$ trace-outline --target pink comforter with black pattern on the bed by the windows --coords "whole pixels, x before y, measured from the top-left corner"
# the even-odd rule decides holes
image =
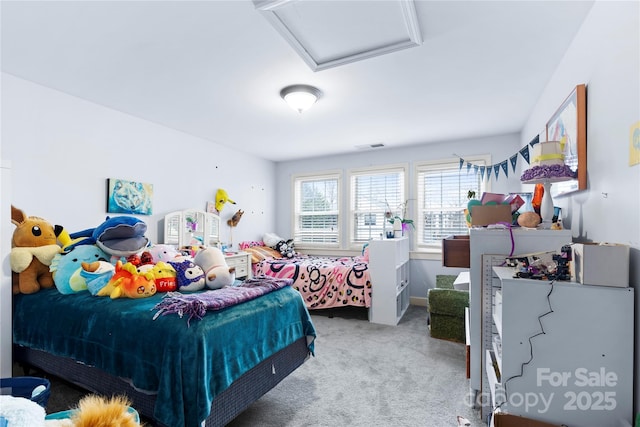
[[[288,259],[266,259],[253,264],[254,277],[293,279],[307,308],[346,305],[371,306],[369,264],[362,257],[327,258],[298,254]]]

